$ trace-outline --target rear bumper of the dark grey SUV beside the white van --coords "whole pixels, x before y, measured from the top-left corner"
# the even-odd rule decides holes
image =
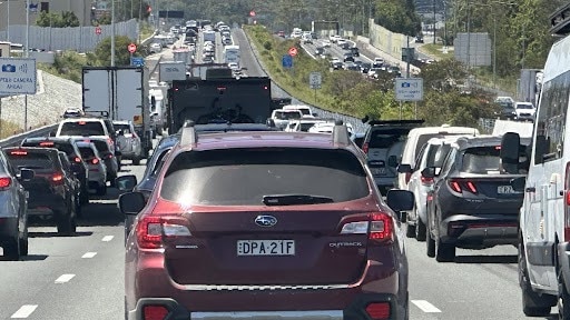
[[[518,216],[455,214],[440,223],[440,238],[465,249],[483,249],[499,244],[519,243]]]

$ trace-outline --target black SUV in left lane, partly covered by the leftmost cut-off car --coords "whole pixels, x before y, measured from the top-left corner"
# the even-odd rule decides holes
[[[61,164],[59,150],[53,148],[4,148],[14,169],[33,170],[33,178],[22,181],[29,192],[28,214],[55,219],[58,233],[76,232],[76,194],[73,178]]]

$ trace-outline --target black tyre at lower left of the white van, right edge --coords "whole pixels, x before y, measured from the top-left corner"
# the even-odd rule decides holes
[[[522,312],[528,317],[547,317],[550,314],[551,306],[556,304],[553,296],[539,296],[532,290],[529,272],[527,270],[527,260],[524,258],[524,244],[519,238],[519,284],[522,291]],[[552,298],[548,298],[552,297]]]

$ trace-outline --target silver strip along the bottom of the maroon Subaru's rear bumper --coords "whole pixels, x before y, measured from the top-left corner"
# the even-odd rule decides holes
[[[199,320],[228,320],[228,319],[258,319],[258,320],[343,320],[342,310],[317,311],[238,311],[238,312],[191,312],[190,319]]]

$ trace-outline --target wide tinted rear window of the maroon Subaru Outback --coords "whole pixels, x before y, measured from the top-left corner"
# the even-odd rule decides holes
[[[180,153],[160,190],[164,199],[204,206],[263,206],[264,196],[275,194],[343,202],[366,197],[370,188],[350,151],[263,148]]]

